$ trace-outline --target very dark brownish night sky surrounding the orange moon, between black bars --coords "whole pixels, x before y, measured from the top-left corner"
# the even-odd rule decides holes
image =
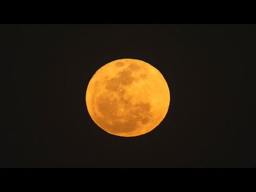
[[[0,25],[0,167],[256,167],[256,25]],[[163,74],[168,114],[124,138],[90,118],[104,64],[134,58]]]

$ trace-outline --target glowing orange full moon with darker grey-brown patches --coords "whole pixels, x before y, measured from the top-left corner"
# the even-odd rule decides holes
[[[102,66],[86,90],[92,120],[110,134],[146,134],[162,122],[170,91],[162,74],[136,59],[119,59]]]

